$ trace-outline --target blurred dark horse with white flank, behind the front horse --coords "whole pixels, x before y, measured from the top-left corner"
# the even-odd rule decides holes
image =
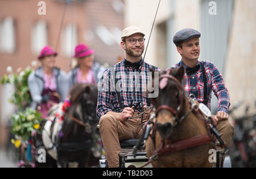
[[[97,86],[76,84],[69,94],[69,101],[49,111],[42,132],[44,147],[61,167],[74,162],[78,167],[97,165],[96,158],[101,155],[96,146],[100,136],[96,127]]]

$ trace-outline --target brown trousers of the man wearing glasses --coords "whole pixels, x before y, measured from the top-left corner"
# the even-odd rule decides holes
[[[134,113],[134,116],[137,115]],[[144,116],[143,123],[146,122]],[[141,116],[121,122],[111,114],[100,118],[100,135],[106,152],[109,167],[119,167],[118,153],[121,152],[119,140],[138,139],[142,135]]]

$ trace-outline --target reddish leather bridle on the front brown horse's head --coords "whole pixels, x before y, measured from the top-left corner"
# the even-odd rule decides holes
[[[174,115],[174,121],[175,121],[175,125],[179,122],[181,122],[181,119],[184,119],[183,116],[181,118],[179,118],[179,113],[180,110],[182,109],[183,103],[185,101],[185,97],[184,97],[184,93],[183,90],[181,89],[181,82],[179,80],[177,80],[176,77],[172,76],[170,74],[171,70],[168,69],[166,74],[162,74],[159,77],[159,88],[160,89],[164,89],[166,88],[167,84],[168,84],[168,79],[171,79],[172,81],[175,81],[175,87],[176,89],[179,91],[179,106],[177,107],[177,109],[174,109],[171,106],[168,105],[160,105],[156,111],[155,111],[155,116],[158,116],[159,112],[162,110],[167,110],[170,111],[172,115]]]

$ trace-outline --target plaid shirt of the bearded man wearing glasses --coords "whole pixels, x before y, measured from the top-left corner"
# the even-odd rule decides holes
[[[114,86],[115,78],[117,78],[116,87],[117,90],[120,91],[123,108],[130,106],[131,101],[133,100],[133,95],[133,103],[141,102],[138,109],[141,109],[144,105],[151,105],[146,94],[146,88],[147,82],[151,80],[150,69],[152,69],[153,66],[145,62],[142,64],[141,59],[139,63],[142,65],[142,68],[141,73],[139,73],[139,69],[137,68],[126,67],[125,60],[126,59],[106,69],[101,77],[101,81],[98,84],[98,103],[96,108],[98,119],[109,111],[121,113]],[[159,70],[156,67],[155,69]],[[138,76],[139,82],[137,84]]]

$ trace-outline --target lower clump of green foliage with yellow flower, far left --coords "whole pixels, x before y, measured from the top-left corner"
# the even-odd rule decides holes
[[[19,136],[22,141],[28,140],[31,136],[31,132],[36,130],[38,124],[43,120],[41,115],[41,113],[31,108],[14,114],[11,117],[13,126],[12,132]]]

